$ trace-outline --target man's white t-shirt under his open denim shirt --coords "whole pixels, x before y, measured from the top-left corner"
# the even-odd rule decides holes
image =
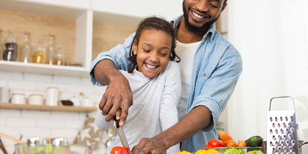
[[[185,44],[176,40],[175,53],[181,59],[181,62],[179,62],[179,64],[180,64],[181,79],[182,79],[182,92],[181,92],[179,106],[177,109],[179,120],[182,119],[186,114],[187,99],[191,85],[191,76],[194,67],[194,57],[200,43],[201,41]]]

